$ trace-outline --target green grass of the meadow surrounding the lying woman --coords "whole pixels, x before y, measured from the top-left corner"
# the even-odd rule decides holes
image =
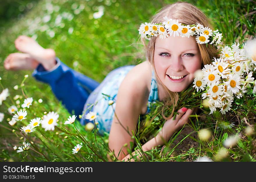
[[[122,65],[137,64],[145,60],[143,48],[138,43],[138,28],[141,23],[148,21],[159,8],[175,1],[136,1],[136,0],[98,0],[98,1],[75,1],[75,0],[52,0],[35,1],[33,7],[27,6],[27,1],[22,1],[21,5],[25,8],[22,12],[17,12],[6,19],[1,19],[0,28],[0,77],[4,88],[9,88],[10,97],[2,105],[0,112],[5,113],[5,118],[1,123],[0,147],[1,161],[106,161],[107,138],[95,135],[94,131],[87,132],[84,126],[78,122],[75,124],[81,134],[76,132],[74,126],[65,126],[63,123],[67,120],[69,113],[58,102],[51,92],[49,85],[35,81],[31,76],[24,82],[24,87],[14,90],[15,85],[20,85],[25,74],[31,75],[31,71],[6,71],[3,68],[3,61],[8,54],[17,52],[14,41],[21,35],[37,37],[38,43],[44,48],[52,48],[57,56],[66,65],[87,76],[102,81],[109,71]],[[46,10],[46,3],[51,2],[55,10],[51,13],[51,19],[47,23],[42,22],[42,18],[49,12]],[[256,6],[250,1],[205,1],[191,0],[186,1],[195,4],[209,17],[215,29],[223,32],[223,44],[232,44],[234,41],[243,43],[247,39],[255,37],[256,32]],[[84,5],[80,13],[75,14],[76,5]],[[10,5],[11,6],[11,5]],[[8,12],[13,12],[15,6],[8,7]],[[49,6],[49,5],[48,5]],[[57,11],[57,6],[59,10]],[[97,12],[98,6],[104,6],[104,15],[99,19],[93,18],[93,13]],[[6,5],[7,7],[7,5]],[[20,8],[23,10],[24,7]],[[49,10],[49,7],[48,7]],[[62,25],[56,26],[55,19],[59,14],[69,12],[73,19],[62,19]],[[21,13],[21,14],[20,14]],[[16,16],[16,17],[14,17]],[[19,17],[19,18],[18,18]],[[3,26],[2,26],[3,25]],[[48,25],[46,31],[42,31],[42,26]],[[64,25],[64,26],[63,26]],[[73,28],[70,34],[68,30]],[[55,32],[54,37],[49,36],[49,30]],[[78,65],[73,63],[77,61]],[[2,89],[1,89],[2,90]],[[27,118],[42,117],[44,112],[55,111],[60,115],[58,128],[54,132],[44,132],[39,129],[35,134],[23,135],[19,128],[26,125],[17,123],[15,127],[8,125],[8,119],[12,115],[8,114],[6,108],[15,101],[12,99],[16,94],[22,95],[22,90],[27,97],[33,97],[35,101],[42,98],[43,103],[35,103],[36,107],[28,110]],[[20,99],[23,102],[24,96]],[[13,103],[12,103],[13,102]],[[248,101],[249,102],[249,101]],[[251,105],[256,105],[252,100]],[[247,103],[241,101],[241,103]],[[255,117],[251,112],[252,117]],[[241,121],[234,128],[217,128],[218,115],[212,118],[204,114],[191,120],[191,124],[177,132],[172,139],[166,143],[164,148],[154,149],[146,152],[148,158],[143,161],[193,161],[198,156],[207,155],[211,159],[216,159],[218,150],[222,147],[222,142],[231,133],[242,132],[246,125]],[[205,123],[203,123],[205,122]],[[232,122],[232,120],[230,121]],[[202,124],[203,123],[203,124]],[[213,133],[213,138],[209,142],[202,142],[197,137],[197,132],[201,128],[209,128]],[[189,132],[187,129],[190,128]],[[186,130],[184,130],[186,129]],[[13,131],[15,130],[15,131]],[[42,130],[42,131],[39,131]],[[42,133],[41,133],[42,132]],[[56,134],[58,132],[58,134]],[[41,136],[42,135],[42,136]],[[65,137],[67,136],[67,137]],[[20,139],[23,137],[23,139]],[[135,144],[131,147],[140,148],[141,141],[137,136]],[[34,147],[24,153],[17,153],[13,146],[21,146],[24,138],[33,141]],[[86,141],[88,143],[86,144]],[[184,151],[181,147],[182,142],[195,142],[190,148]],[[73,155],[72,148],[77,143],[82,142],[84,147]],[[224,161],[255,161],[255,135],[243,138],[236,147],[227,149],[229,156]],[[44,156],[44,155],[45,156]],[[216,159],[217,160],[217,159]]]

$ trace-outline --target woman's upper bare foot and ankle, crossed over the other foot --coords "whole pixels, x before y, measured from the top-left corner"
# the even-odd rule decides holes
[[[15,47],[20,52],[29,54],[33,59],[41,63],[46,70],[50,70],[56,65],[55,51],[43,48],[30,37],[25,35],[19,36],[15,40]]]

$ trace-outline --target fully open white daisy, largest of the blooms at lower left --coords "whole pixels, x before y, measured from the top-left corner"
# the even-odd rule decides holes
[[[47,115],[44,115],[43,120],[41,121],[42,128],[47,130],[54,130],[54,126],[57,125],[57,119],[59,115],[55,112],[49,112]]]

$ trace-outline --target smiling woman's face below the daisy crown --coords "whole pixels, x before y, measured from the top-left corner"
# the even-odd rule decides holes
[[[161,82],[172,92],[185,90],[201,69],[201,56],[193,37],[157,38],[154,65]]]

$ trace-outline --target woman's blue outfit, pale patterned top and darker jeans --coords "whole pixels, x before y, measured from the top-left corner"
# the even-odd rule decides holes
[[[67,108],[71,114],[82,114],[81,124],[89,121],[86,114],[90,111],[97,113],[95,122],[99,124],[99,133],[109,133],[114,117],[115,101],[118,88],[125,78],[126,74],[134,68],[134,65],[123,66],[111,71],[102,83],[98,83],[85,75],[78,73],[58,58],[57,64],[51,70],[45,70],[42,65],[34,70],[32,75],[39,81],[48,83],[58,100]],[[109,105],[109,101],[113,105]],[[151,88],[148,98],[147,113],[150,111],[150,103],[158,98],[157,81],[152,72]]]

